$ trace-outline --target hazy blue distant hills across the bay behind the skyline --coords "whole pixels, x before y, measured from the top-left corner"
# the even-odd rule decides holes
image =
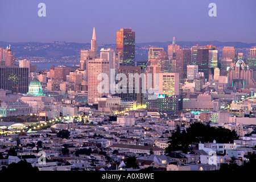
[[[18,42],[9,43],[1,42],[0,47],[6,48],[11,45],[14,55],[18,59],[35,59],[38,57],[46,60],[74,60],[79,61],[81,49],[90,49],[90,43],[75,43],[75,42],[52,42],[52,43],[41,43],[41,42]],[[147,60],[147,52],[150,47],[163,47],[167,51],[168,45],[172,42],[150,42],[150,43],[136,43],[135,44],[135,61]],[[207,46],[213,45],[217,47],[234,46],[234,48],[251,48],[256,46],[256,43],[243,43],[243,42],[219,42],[213,41],[178,41],[176,42],[181,48],[189,48],[192,46]],[[115,44],[98,44],[98,51],[101,48],[112,48],[115,49]],[[243,51],[243,50],[242,50]],[[247,52],[245,52],[246,55]],[[221,51],[220,51],[221,54]]]

